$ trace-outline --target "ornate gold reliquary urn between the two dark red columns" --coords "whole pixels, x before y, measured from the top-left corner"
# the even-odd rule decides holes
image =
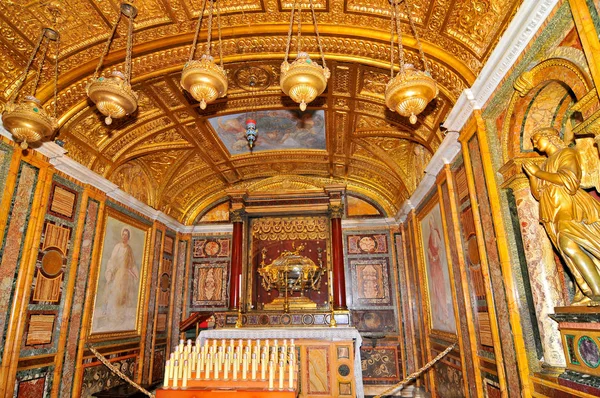
[[[262,262],[258,273],[265,290],[276,289],[279,292],[272,302],[265,304],[266,310],[311,309],[317,308],[317,303],[304,296],[307,290],[318,291],[321,286],[321,277],[325,273],[319,249],[318,262],[315,264],[310,258],[301,255],[304,245],[301,244],[294,250],[285,250],[271,264],[265,264],[266,249],[262,250]],[[299,292],[299,296],[294,296]]]

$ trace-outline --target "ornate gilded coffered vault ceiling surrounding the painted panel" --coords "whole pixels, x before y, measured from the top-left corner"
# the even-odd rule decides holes
[[[136,1],[133,82],[140,94],[139,110],[109,128],[86,99],[85,86],[116,20],[119,2],[62,1],[59,138],[69,156],[185,223],[222,199],[225,190],[251,189],[266,178],[301,181],[299,187],[342,182],[394,214],[416,188],[443,139],[439,123],[474,81],[520,1],[411,2],[433,77],[440,85],[440,95],[416,125],[387,110],[383,100],[390,59],[388,1],[315,1],[332,76],[325,93],[309,109],[324,111],[326,149],[238,155],[228,152],[209,118],[248,108],[297,109],[279,89],[291,0],[222,0],[223,55],[230,86],[227,97],[205,111],[179,86],[201,1]],[[39,1],[0,2],[0,104],[14,90],[35,37],[50,19]],[[406,18],[403,21],[407,32]],[[306,48],[314,53],[316,40],[306,25],[310,28],[304,33]],[[122,69],[124,26],[117,33],[105,72]],[[203,28],[201,40],[205,36]],[[406,58],[419,65],[412,35],[404,37],[404,45]],[[47,69],[38,97],[51,106]],[[268,87],[249,90],[250,75],[268,81],[261,83]],[[260,120],[258,129],[260,134]]]

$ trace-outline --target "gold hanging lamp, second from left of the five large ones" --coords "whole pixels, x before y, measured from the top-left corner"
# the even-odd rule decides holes
[[[98,72],[104,62],[104,57],[108,54],[110,45],[117,31],[117,26],[121,16],[125,15],[129,19],[127,29],[127,48],[125,55],[125,73],[114,71],[110,77],[98,77]],[[108,125],[112,123],[113,118],[118,119],[130,115],[137,109],[137,94],[131,89],[131,52],[133,47],[133,19],[137,15],[137,9],[129,2],[121,4],[121,11],[117,22],[106,42],[106,49],[100,57],[100,62],[96,67],[92,81],[87,86],[88,97],[96,104],[96,107],[106,118],[104,122]]]

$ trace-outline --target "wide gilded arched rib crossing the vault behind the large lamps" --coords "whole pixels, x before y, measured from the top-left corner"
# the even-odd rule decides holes
[[[263,60],[283,58],[287,29],[287,24],[243,26],[227,29],[226,32],[228,34],[223,37],[224,62],[231,63],[261,58]],[[355,25],[322,26],[319,24],[319,31],[324,35],[323,46],[328,59],[347,60],[389,68],[389,29],[381,31],[357,27]],[[279,33],[280,35],[258,35],[262,32],[269,32],[271,35]],[[252,35],[258,36],[248,37]],[[308,40],[307,46],[309,48],[316,48],[315,38],[309,36],[306,40]],[[180,70],[189,55],[191,41],[192,33],[189,33],[157,38],[152,42],[134,46],[132,83]],[[314,43],[312,43],[313,41]],[[404,37],[403,45],[408,57],[407,61],[417,62],[419,55],[416,50],[415,40],[412,37]],[[440,83],[456,83],[460,81],[462,84],[470,84],[475,80],[474,72],[450,53],[427,42],[424,42],[423,46],[427,59],[432,66],[432,74],[434,78],[439,78]],[[349,50],[350,53],[348,53]],[[87,61],[83,61],[82,59],[66,59],[65,61],[61,61],[61,69],[67,70],[67,72],[61,73],[58,82],[59,87],[78,85],[81,89],[84,89],[97,65],[101,52],[94,55],[94,57],[89,57]],[[106,65],[105,70],[110,71],[117,68],[123,62],[124,57],[124,50],[109,53],[104,61],[104,65]],[[157,65],[160,65],[160,68],[157,68]],[[452,75],[456,75],[456,77],[451,77]],[[449,78],[454,80],[454,82],[448,81]],[[85,81],[82,82],[81,80]],[[442,84],[442,87],[444,86]],[[60,90],[60,92],[62,93],[63,90]],[[85,90],[82,92],[85,95]],[[51,84],[45,84],[40,87],[38,96],[43,103],[46,102],[52,96]],[[452,95],[450,94],[449,97],[452,97]],[[58,102],[60,104],[65,100],[65,98],[59,97]],[[71,103],[69,108],[74,105]],[[63,112],[62,109],[61,112]]]

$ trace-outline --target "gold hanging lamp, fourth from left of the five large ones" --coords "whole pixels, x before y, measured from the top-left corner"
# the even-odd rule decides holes
[[[317,17],[315,15],[315,6],[313,0],[309,0],[310,11],[312,13],[313,24],[315,27],[315,35],[317,36],[317,44],[321,54],[323,66],[313,62],[307,52],[302,51],[302,5],[299,0],[294,0],[294,6],[290,15],[290,28],[288,30],[288,40],[285,49],[285,59],[281,64],[280,85],[284,94],[300,104],[300,110],[306,110],[306,104],[312,102],[317,96],[321,95],[327,87],[327,80],[331,73],[325,64],[325,55],[323,53],[323,45],[319,36],[319,27],[317,25]],[[291,64],[288,62],[290,46],[292,42],[292,30],[294,27],[294,13],[298,5],[298,55]]]

